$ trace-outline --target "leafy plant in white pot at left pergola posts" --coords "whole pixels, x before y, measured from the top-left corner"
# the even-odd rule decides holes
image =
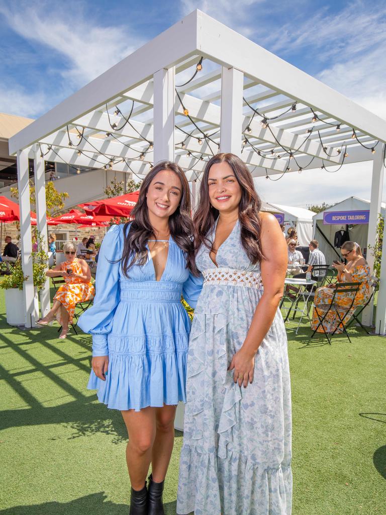
[[[43,289],[48,268],[48,256],[43,249],[42,238],[36,231],[38,242],[38,251],[32,253],[32,269],[33,269],[33,286],[34,286],[34,308],[32,317],[37,320],[39,318],[39,301],[38,292]],[[23,301],[23,283],[28,276],[23,275],[22,262],[18,259],[9,276],[5,276],[0,282],[0,288],[5,290],[5,305],[7,313],[7,323],[10,325],[24,325],[24,301]]]

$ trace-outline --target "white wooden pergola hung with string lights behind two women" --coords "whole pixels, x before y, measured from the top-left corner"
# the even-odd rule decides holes
[[[9,140],[10,154],[17,155],[26,327],[33,325],[34,293],[28,159],[34,160],[44,237],[44,161],[143,177],[153,163],[168,159],[185,170],[195,196],[196,180],[219,150],[241,156],[253,177],[372,160],[374,245],[385,142],[384,119],[203,12],[192,12]],[[386,256],[386,238],[384,247]],[[367,261],[373,265],[370,253]],[[386,258],[379,334],[386,333],[383,284]],[[44,314],[48,282],[41,306]],[[366,316],[370,322],[370,310]]]

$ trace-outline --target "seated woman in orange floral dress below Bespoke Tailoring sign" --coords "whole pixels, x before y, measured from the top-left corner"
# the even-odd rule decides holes
[[[356,242],[345,242],[341,247],[341,254],[343,258],[347,259],[347,264],[334,266],[338,270],[338,282],[339,283],[360,283],[358,293],[339,293],[335,296],[334,304],[342,306],[340,310],[337,307],[335,310],[331,310],[326,318],[323,320],[323,325],[326,333],[341,333],[343,331],[342,324],[340,323],[339,316],[343,319],[344,324],[352,317],[357,306],[363,306],[370,297],[370,282],[371,272],[370,267],[367,265],[366,260],[363,258],[360,246]],[[328,310],[329,304],[331,304],[332,297],[334,297],[335,284],[329,286],[323,286],[315,291],[315,299],[312,313],[311,329],[314,331],[317,329],[320,320],[323,319],[326,311]],[[355,295],[354,303],[350,308],[348,314],[345,316],[347,308],[353,301],[353,295]],[[319,317],[318,317],[319,314]],[[317,329],[318,333],[323,333],[322,325]]]

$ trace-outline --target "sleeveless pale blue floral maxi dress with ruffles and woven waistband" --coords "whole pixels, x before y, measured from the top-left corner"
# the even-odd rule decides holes
[[[277,310],[256,354],[253,383],[240,388],[227,367],[247,335],[262,286],[260,265],[252,265],[241,247],[239,222],[218,249],[217,264],[202,247],[197,266],[204,287],[189,342],[177,512],[290,515],[291,392],[283,318]]]

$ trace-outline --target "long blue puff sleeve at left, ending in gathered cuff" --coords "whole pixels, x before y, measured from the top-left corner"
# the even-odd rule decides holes
[[[93,305],[79,318],[78,325],[93,335],[93,356],[107,356],[107,335],[120,298],[119,268],[122,255],[122,227],[112,226],[99,250]]]

